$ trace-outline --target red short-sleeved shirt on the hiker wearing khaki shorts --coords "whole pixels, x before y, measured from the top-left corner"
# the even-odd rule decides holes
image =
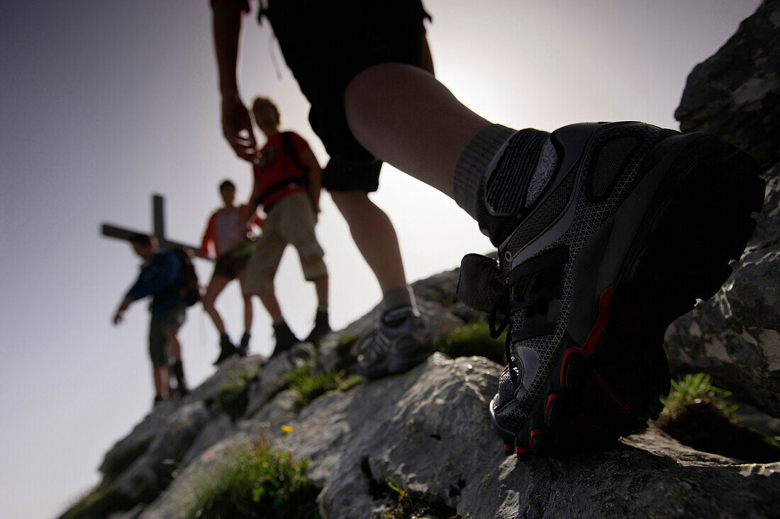
[[[295,132],[289,132],[289,136],[300,161],[300,156],[309,149],[309,144]],[[253,170],[255,182],[253,196],[264,196],[268,192],[268,196],[259,200],[265,207],[278,202],[290,193],[306,192],[306,187],[301,183],[306,172],[293,161],[293,157],[285,154],[282,133],[277,133],[268,139],[260,154],[257,155]]]

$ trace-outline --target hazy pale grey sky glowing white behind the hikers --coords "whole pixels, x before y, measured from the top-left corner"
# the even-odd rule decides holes
[[[151,407],[148,314],[109,323],[137,274],[129,246],[101,238],[108,221],[151,230],[151,193],[167,199],[172,238],[198,242],[229,177],[248,196],[250,170],[218,126],[207,0],[72,0],[3,5],[0,18],[0,517],[51,517],[98,480],[115,440]],[[491,121],[552,130],[636,119],[676,127],[687,74],[759,0],[427,0],[438,77]],[[275,72],[278,63],[281,79]],[[240,85],[275,99],[283,124],[321,143],[268,23],[246,19]],[[490,244],[449,199],[385,166],[374,201],[398,231],[410,281],[456,267]],[[380,298],[325,197],[317,228],[331,273],[335,328]],[[197,265],[204,280],[211,265]],[[276,278],[282,310],[305,336],[314,288],[288,249]],[[241,332],[236,287],[218,302]],[[270,321],[256,303],[254,351]],[[195,385],[213,372],[218,335],[200,307],[181,332]]]

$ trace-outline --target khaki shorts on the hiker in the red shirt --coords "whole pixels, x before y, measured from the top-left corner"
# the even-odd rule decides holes
[[[287,245],[293,245],[298,251],[307,281],[328,275],[322,260],[324,252],[314,234],[314,210],[306,193],[294,192],[274,204],[263,224],[263,235],[246,263],[244,295],[274,290],[274,276]]]

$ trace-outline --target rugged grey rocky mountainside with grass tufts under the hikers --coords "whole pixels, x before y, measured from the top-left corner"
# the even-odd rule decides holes
[[[732,277],[665,337],[675,375],[710,373],[714,386],[732,391],[743,408],[775,427],[778,55],[780,1],[767,1],[688,79],[675,112],[682,129],[714,132],[754,154],[767,168],[767,193],[757,230]],[[229,360],[119,440],[101,464],[100,485],[62,517],[780,515],[776,450],[752,462],[742,454],[704,452],[665,433],[663,419],[597,450],[528,461],[505,457],[488,416],[502,345],[486,337],[483,315],[458,302],[457,280],[452,270],[413,284],[444,353],[402,375],[356,378],[356,343],[375,322],[374,309],[317,348],[298,344],[288,357],[269,362],[257,356]],[[695,380],[701,385],[701,378]],[[704,436],[717,433],[711,427]],[[248,485],[246,500],[270,503],[268,510],[293,500],[297,515],[250,514],[239,485]],[[239,502],[226,512],[215,499]]]

